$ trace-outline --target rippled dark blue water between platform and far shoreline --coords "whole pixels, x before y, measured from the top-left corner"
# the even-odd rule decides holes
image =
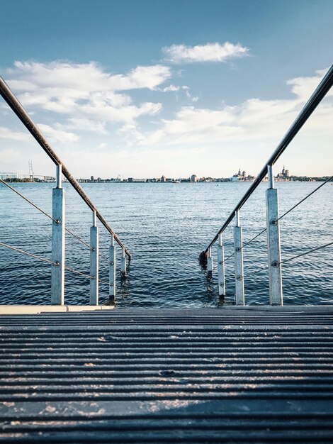
[[[287,211],[318,183],[276,184],[280,212]],[[51,213],[54,184],[14,184]],[[84,184],[84,189],[132,252],[128,278],[120,285],[118,306],[218,306],[217,270],[212,279],[198,264],[208,245],[249,184]],[[89,243],[91,211],[74,190],[66,189],[67,228]],[[266,184],[242,209],[243,241],[266,226]],[[281,220],[282,258],[332,242],[333,186],[319,192]],[[0,185],[0,241],[51,259],[48,218]],[[100,250],[108,253],[109,236],[100,228]],[[67,266],[89,274],[89,250],[66,236]],[[216,251],[214,252],[215,265]],[[118,253],[120,249],[118,248]],[[232,254],[232,226],[225,232],[225,257]],[[120,258],[120,255],[118,255]],[[266,233],[244,248],[247,304],[267,304],[268,274],[253,274],[267,262]],[[108,279],[101,257],[100,278]],[[120,260],[118,260],[120,266]],[[50,304],[50,265],[0,248],[0,304]],[[226,304],[235,294],[233,258],[226,263]],[[89,279],[66,272],[66,304],[89,304]],[[285,304],[333,304],[333,248],[305,255],[283,267]],[[100,301],[108,301],[101,284]]]

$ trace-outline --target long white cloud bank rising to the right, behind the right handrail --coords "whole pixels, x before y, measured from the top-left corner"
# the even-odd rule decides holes
[[[309,98],[323,72],[314,77],[300,77],[287,82],[292,85],[294,97],[285,100],[249,99],[237,106],[224,105],[220,109],[203,109],[183,106],[174,118],[162,119],[159,128],[147,133],[132,131],[135,142],[143,146],[193,145],[208,146],[214,143],[278,142]],[[182,87],[188,93],[188,87]],[[191,95],[188,93],[189,97]],[[329,132],[332,119],[333,91],[306,123],[303,131]],[[193,98],[192,98],[193,99]]]

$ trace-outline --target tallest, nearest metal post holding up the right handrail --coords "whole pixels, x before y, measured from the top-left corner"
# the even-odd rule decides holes
[[[267,172],[269,176],[269,189],[266,189],[269,304],[283,305],[278,190],[274,188],[274,176],[271,165],[268,165]]]

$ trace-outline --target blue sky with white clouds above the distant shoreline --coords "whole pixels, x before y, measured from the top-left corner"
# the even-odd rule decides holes
[[[0,74],[77,177],[256,174],[333,60],[331,0],[0,4]],[[332,111],[278,169],[332,174]],[[0,170],[51,173],[0,118]]]

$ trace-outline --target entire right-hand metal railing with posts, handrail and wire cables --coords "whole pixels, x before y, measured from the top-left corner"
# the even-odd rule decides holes
[[[278,190],[274,188],[274,176],[273,176],[273,165],[276,163],[278,158],[283,154],[286,150],[290,142],[293,140],[295,135],[298,134],[300,128],[303,127],[307,119],[312,115],[313,111],[320,104],[324,96],[326,96],[329,89],[333,84],[333,65],[327,71],[324,78],[318,85],[317,89],[313,92],[310,99],[307,101],[302,111],[300,111],[298,117],[293,122],[292,126],[290,126],[286,135],[281,140],[281,143],[278,145],[276,150],[273,152],[269,160],[265,163],[262,170],[257,175],[256,179],[252,185],[247,189],[242,199],[235,206],[235,209],[230,213],[230,216],[227,218],[225,223],[223,223],[222,227],[215,235],[213,240],[209,243],[208,247],[201,252],[199,257],[199,261],[203,265],[208,266],[208,275],[211,276],[213,273],[213,257],[212,257],[212,247],[215,242],[218,240],[218,288],[219,295],[225,296],[225,262],[230,260],[232,257],[235,257],[235,302],[237,305],[244,305],[244,269],[243,269],[243,249],[247,247],[250,243],[252,243],[256,238],[265,232],[267,232],[267,249],[268,249],[268,265],[267,267],[262,267],[261,269],[255,272],[261,272],[263,270],[269,271],[269,301],[271,305],[283,305],[283,292],[282,292],[282,274],[281,274],[281,265],[284,262],[289,262],[290,260],[294,260],[297,257],[303,256],[305,254],[310,254],[311,252],[320,250],[322,248],[327,248],[332,243],[327,243],[325,245],[321,245],[320,247],[313,248],[307,252],[304,252],[300,255],[295,255],[285,260],[281,260],[281,248],[280,248],[280,227],[279,221],[286,216],[290,211],[293,211],[298,205],[302,204],[308,197],[317,192],[324,184],[333,179],[329,177],[326,181],[320,184],[315,190],[307,194],[303,199],[301,199],[297,204],[295,204],[292,208],[290,208],[286,213],[283,213],[282,216],[279,216],[278,213]],[[249,197],[253,194],[254,190],[259,187],[259,184],[268,176],[268,189],[266,190],[266,228],[260,231],[260,233],[256,234],[254,238],[249,240],[247,243],[243,243],[242,241],[242,227],[240,225],[240,209],[244,206],[245,202],[249,199]],[[225,229],[230,226],[230,223],[235,218],[235,228],[234,228],[234,252],[232,255],[228,256],[227,259],[224,258],[224,245],[222,241],[222,233]]]

